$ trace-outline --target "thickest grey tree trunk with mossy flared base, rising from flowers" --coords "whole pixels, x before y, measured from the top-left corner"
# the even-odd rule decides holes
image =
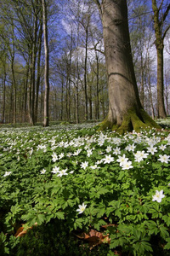
[[[99,3],[99,2],[98,2]],[[127,24],[127,1],[105,0],[100,5],[108,75],[109,113],[100,130],[139,131],[156,123],[144,112],[133,70]]]

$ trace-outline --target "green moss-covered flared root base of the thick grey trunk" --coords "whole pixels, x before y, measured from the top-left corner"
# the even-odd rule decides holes
[[[105,131],[111,129],[111,131],[117,131],[120,134],[124,134],[127,131],[139,132],[141,129],[156,128],[161,129],[160,125],[150,118],[150,115],[144,111],[143,108],[139,110],[139,114],[133,109],[127,111],[122,118],[122,124],[117,125],[111,122],[108,117],[101,122],[98,131]]]

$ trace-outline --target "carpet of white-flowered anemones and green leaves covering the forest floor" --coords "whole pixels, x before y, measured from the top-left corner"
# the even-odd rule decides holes
[[[170,255],[169,148],[165,130],[1,128],[0,255]]]

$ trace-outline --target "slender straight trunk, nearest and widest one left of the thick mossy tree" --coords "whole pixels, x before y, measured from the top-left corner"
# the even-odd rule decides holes
[[[44,94],[44,116],[43,126],[49,125],[49,54],[48,54],[48,22],[47,22],[47,3],[42,0],[42,14],[43,14],[43,37],[44,37],[44,51],[45,51],[45,94]]]

